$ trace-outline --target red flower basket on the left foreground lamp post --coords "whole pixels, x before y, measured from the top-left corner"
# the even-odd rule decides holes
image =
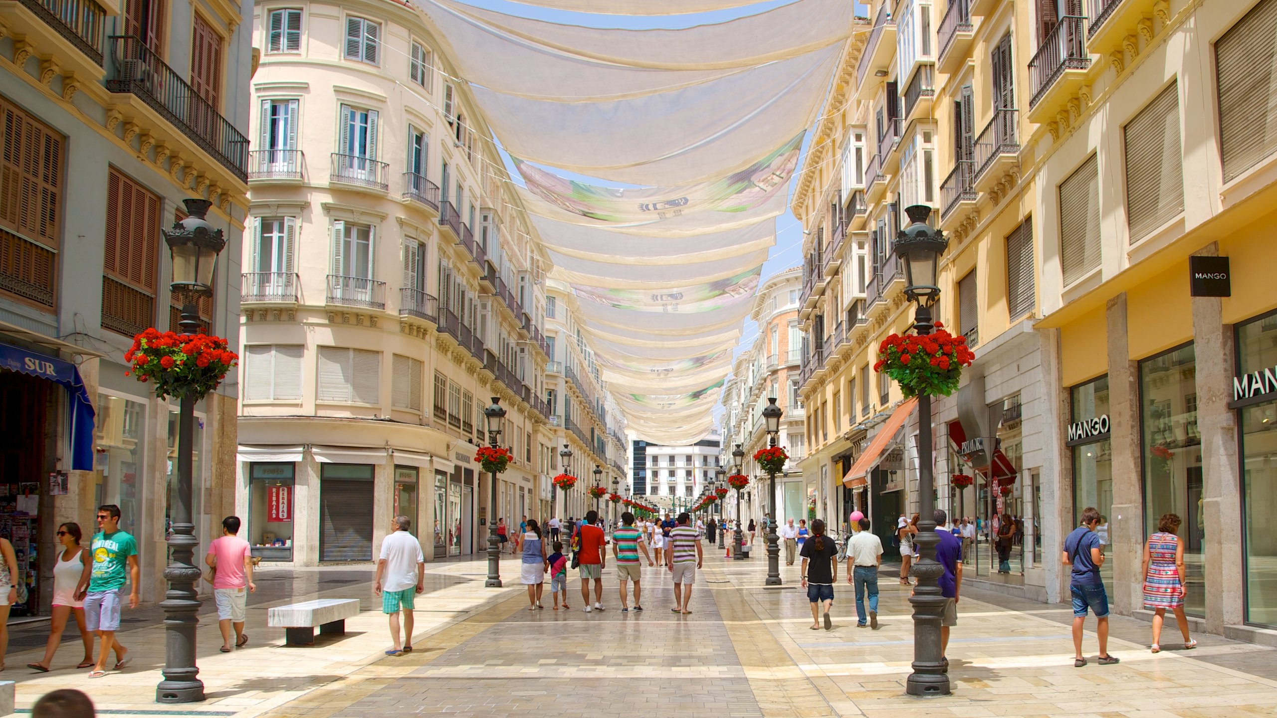
[[[125,376],[153,381],[156,396],[203,399],[217,388],[239,355],[226,349],[226,340],[199,333],[160,332],[148,328],[133,337],[124,360],[133,364]]]

